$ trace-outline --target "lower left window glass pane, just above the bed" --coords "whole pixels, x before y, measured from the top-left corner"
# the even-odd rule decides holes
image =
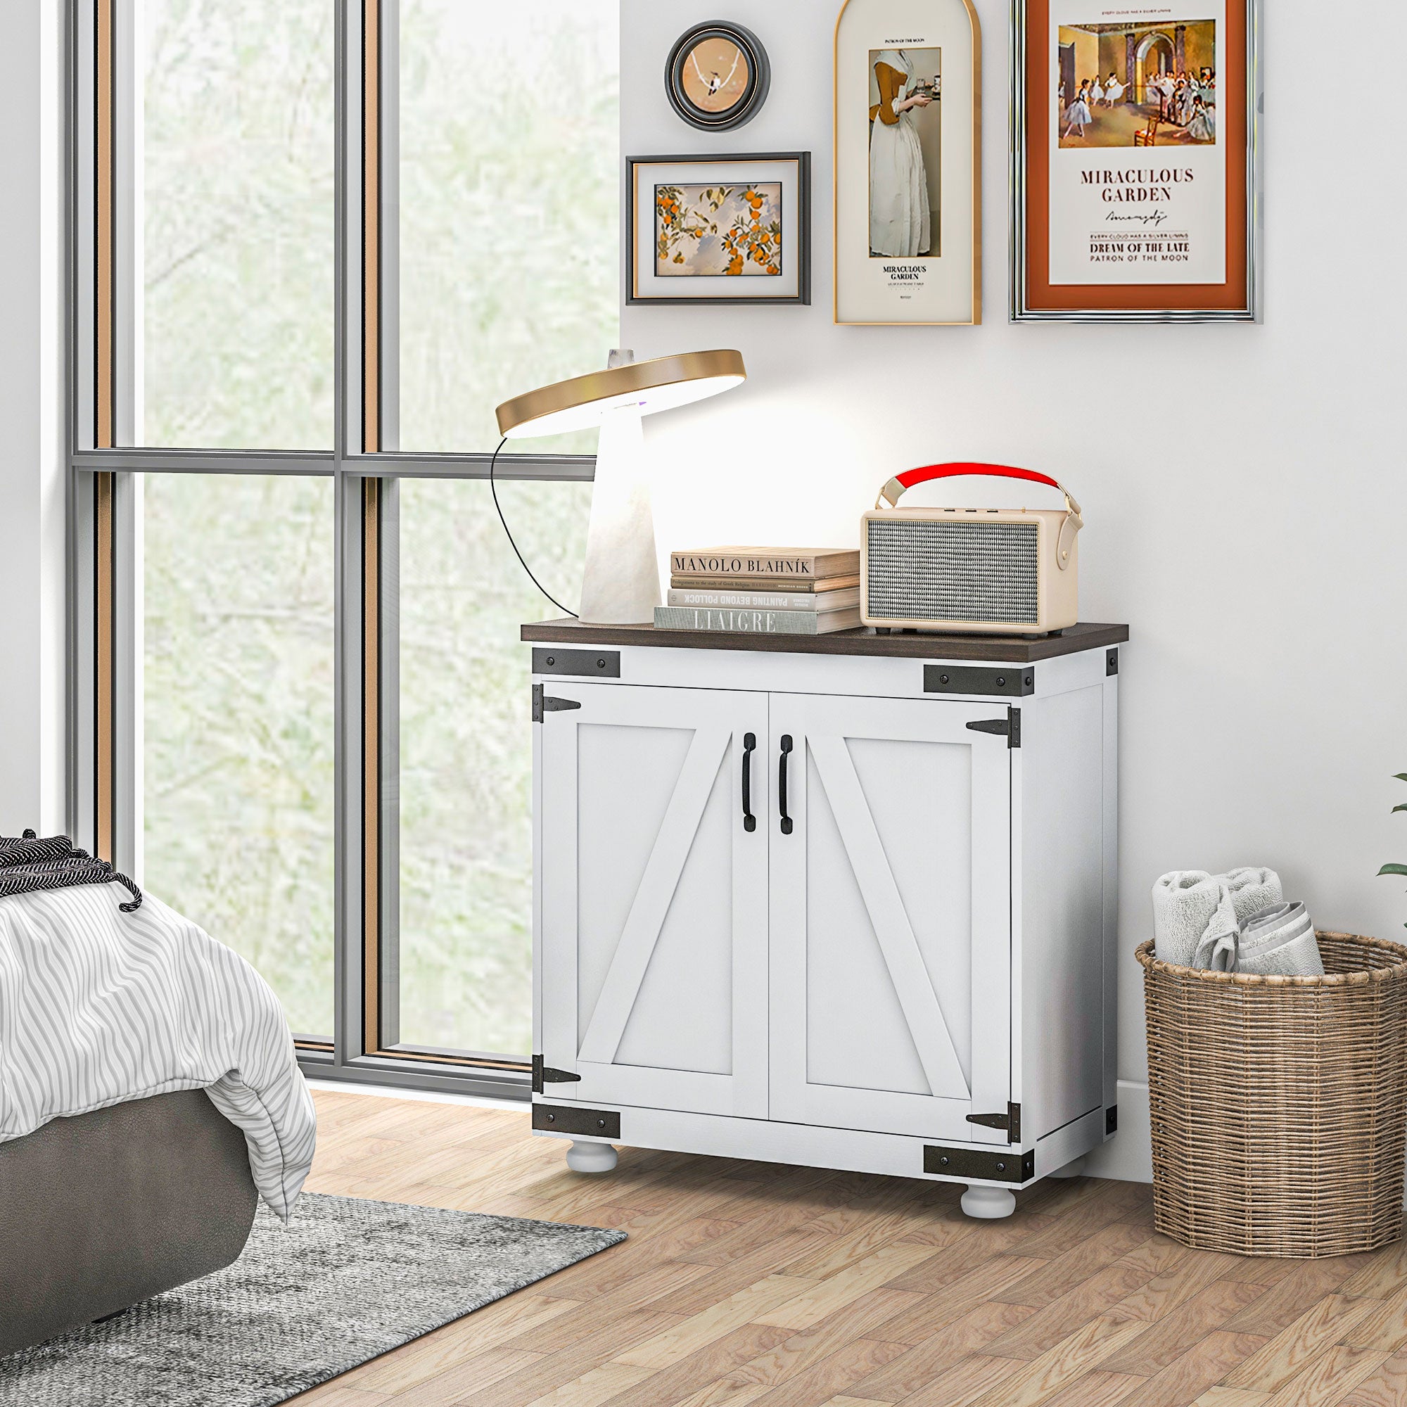
[[[142,884],[332,1033],[332,480],[135,476]]]

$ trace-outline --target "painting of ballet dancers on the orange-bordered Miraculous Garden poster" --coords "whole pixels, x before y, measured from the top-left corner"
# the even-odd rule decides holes
[[[1214,146],[1216,21],[1059,25],[1055,120],[1065,149]]]

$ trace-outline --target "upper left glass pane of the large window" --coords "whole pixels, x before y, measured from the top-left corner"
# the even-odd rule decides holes
[[[136,443],[332,446],[333,0],[141,0]]]

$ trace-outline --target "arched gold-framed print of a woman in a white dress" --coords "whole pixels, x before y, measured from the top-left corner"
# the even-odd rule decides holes
[[[836,21],[836,322],[982,321],[982,31],[971,0]]]

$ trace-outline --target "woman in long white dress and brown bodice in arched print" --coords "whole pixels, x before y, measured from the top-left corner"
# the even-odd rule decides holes
[[[870,252],[913,259],[933,248],[929,173],[912,110],[933,98],[915,91],[913,62],[899,49],[875,61],[879,101],[870,108]]]

